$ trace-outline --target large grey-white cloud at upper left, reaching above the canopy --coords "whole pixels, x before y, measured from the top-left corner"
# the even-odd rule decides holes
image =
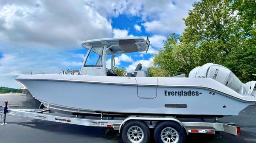
[[[0,33],[15,45],[71,49],[112,35],[111,22],[82,1],[9,3],[0,2]]]

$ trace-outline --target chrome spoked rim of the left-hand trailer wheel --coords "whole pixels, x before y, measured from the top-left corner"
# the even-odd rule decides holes
[[[140,143],[143,141],[144,132],[138,126],[131,126],[131,128],[128,129],[127,137],[131,143]]]

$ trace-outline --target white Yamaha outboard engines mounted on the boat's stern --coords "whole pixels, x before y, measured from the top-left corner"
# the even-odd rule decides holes
[[[212,78],[241,95],[256,95],[254,90],[256,81],[243,84],[227,67],[219,64],[207,63],[201,67],[195,67],[190,71],[189,78]]]

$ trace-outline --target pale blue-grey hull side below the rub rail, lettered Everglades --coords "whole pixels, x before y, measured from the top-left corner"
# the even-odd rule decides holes
[[[253,103],[197,87],[157,87],[155,98],[140,98],[137,86],[70,81],[19,80],[40,101],[85,111],[166,114],[238,115]],[[198,95],[178,95],[178,92]],[[173,95],[172,93],[175,93]],[[215,93],[209,94],[209,92]],[[143,93],[143,91],[140,91]],[[145,93],[148,93],[145,91]],[[166,94],[167,93],[167,94]],[[170,93],[170,94],[169,94]],[[199,94],[201,93],[201,94]]]

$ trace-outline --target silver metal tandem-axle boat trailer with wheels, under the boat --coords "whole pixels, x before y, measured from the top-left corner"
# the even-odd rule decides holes
[[[8,102],[5,102],[5,104],[1,106],[0,110],[0,113],[3,114],[3,124],[6,124],[6,114],[8,113],[10,115],[17,115],[44,121],[53,121],[58,123],[69,123],[82,126],[109,127],[119,131],[119,133],[122,134],[122,138],[125,143],[133,143],[141,139],[147,138],[149,141],[150,132],[147,132],[147,130],[149,131],[149,129],[154,129],[154,137],[156,141],[166,140],[170,143],[172,143],[172,140],[175,141],[175,139],[178,139],[180,141],[177,143],[185,143],[186,135],[189,135],[190,133],[215,134],[217,132],[223,131],[232,135],[241,135],[241,129],[239,126],[236,126],[234,123],[221,123],[217,120],[217,118],[214,122],[206,122],[203,120],[186,121],[186,119],[179,119],[173,116],[154,115],[131,115],[126,118],[108,117],[104,116],[103,114],[101,114],[99,117],[81,115],[74,116],[52,112],[50,109],[8,109],[7,105]],[[139,126],[140,123],[143,123],[145,125],[145,130],[143,127]],[[161,136],[161,138],[159,137],[157,139],[156,135],[158,135],[158,133],[162,131],[161,134],[164,134],[164,129],[161,129],[159,127],[160,124],[164,124],[164,126],[170,125],[170,128],[165,128],[166,136]],[[140,128],[135,127],[134,129],[132,129],[132,127],[136,125],[138,125]],[[170,129],[174,129],[175,132],[168,132],[168,130],[170,131]],[[125,133],[123,134],[122,132]],[[140,136],[140,132],[144,132],[143,137]],[[157,141],[157,143],[161,143],[160,141]]]

